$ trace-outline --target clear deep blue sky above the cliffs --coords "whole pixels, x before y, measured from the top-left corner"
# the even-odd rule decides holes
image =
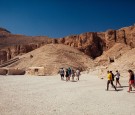
[[[64,37],[135,23],[135,0],[0,0],[0,27],[14,34]]]

